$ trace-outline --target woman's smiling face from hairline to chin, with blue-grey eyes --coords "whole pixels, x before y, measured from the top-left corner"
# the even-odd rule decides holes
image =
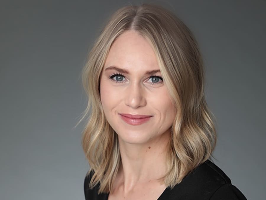
[[[119,140],[145,144],[170,132],[176,109],[150,43],[135,31],[120,35],[100,79],[103,111]]]

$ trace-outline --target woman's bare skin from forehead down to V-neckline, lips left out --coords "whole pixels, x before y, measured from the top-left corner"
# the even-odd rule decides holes
[[[121,73],[121,69],[127,73]],[[158,70],[153,74],[147,71]],[[108,53],[100,78],[100,97],[107,121],[116,131],[122,166],[108,199],[157,199],[165,190],[166,152],[176,109],[151,43],[136,31],[120,35]],[[115,74],[119,73],[120,75]],[[112,77],[112,78],[110,78]],[[150,115],[127,124],[119,113]]]

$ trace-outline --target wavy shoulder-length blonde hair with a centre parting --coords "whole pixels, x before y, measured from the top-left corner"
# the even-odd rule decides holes
[[[82,71],[89,97],[82,119],[88,116],[82,146],[94,175],[90,187],[110,193],[121,164],[118,138],[101,106],[99,80],[112,43],[135,30],[153,44],[164,83],[176,106],[171,127],[164,183],[173,187],[212,154],[216,144],[213,114],[204,97],[204,70],[197,42],[189,28],[168,10],[150,4],[116,11],[96,40]]]

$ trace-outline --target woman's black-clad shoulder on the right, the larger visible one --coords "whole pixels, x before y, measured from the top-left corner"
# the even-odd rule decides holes
[[[171,190],[171,195],[174,193],[180,199],[246,200],[230,178],[210,160],[191,171]]]

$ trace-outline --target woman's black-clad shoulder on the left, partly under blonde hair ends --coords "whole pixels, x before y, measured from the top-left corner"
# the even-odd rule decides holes
[[[84,179],[84,195],[85,200],[102,200],[107,199],[107,194],[98,194],[98,189],[100,184],[96,185],[93,188],[89,187],[90,180],[94,174],[94,171],[90,171],[86,174]]]

